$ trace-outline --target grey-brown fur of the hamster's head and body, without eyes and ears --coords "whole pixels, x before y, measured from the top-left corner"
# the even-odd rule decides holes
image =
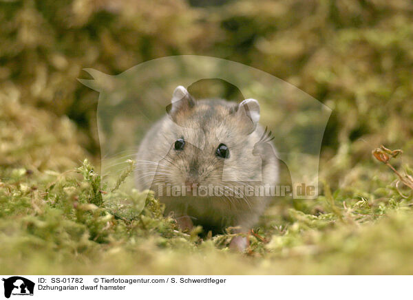
[[[222,180],[224,168],[229,174],[251,179],[260,175],[257,173],[262,168],[262,180],[243,180],[242,184],[277,184],[278,162],[275,148],[269,143],[260,144],[264,130],[260,125],[253,124],[251,118],[244,118],[240,111],[237,103],[220,99],[198,100],[191,107],[185,105],[184,109],[169,109],[169,114],[147,132],[138,149],[138,189],[154,189],[157,193],[158,186],[154,188],[155,184],[182,186],[188,180],[202,185],[228,186],[231,183]],[[255,108],[254,113],[259,118],[259,107],[258,111]],[[256,120],[257,116],[254,118]],[[174,149],[178,138],[184,138],[187,142],[182,151]],[[215,156],[220,143],[229,147],[230,158]],[[261,165],[256,163],[257,158],[260,161],[262,159]],[[166,214],[173,212],[175,217],[189,215],[195,224],[219,228],[240,226],[242,231],[248,230],[257,222],[270,200],[268,197],[159,198],[166,204]]]

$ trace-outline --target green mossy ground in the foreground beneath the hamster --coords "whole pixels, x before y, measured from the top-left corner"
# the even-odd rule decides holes
[[[406,199],[392,190],[391,198],[374,193],[343,197],[341,191],[321,195],[305,205],[306,211],[317,207],[317,214],[288,208],[279,218],[279,211],[271,213],[279,209],[275,204],[241,254],[227,248],[230,233],[202,240],[200,228],[179,231],[173,219],[163,217],[163,206],[152,193],[142,210],[125,217],[116,211],[116,191],[95,189],[100,179],[87,160],[74,172],[45,176],[36,189],[29,187],[32,178],[25,173],[1,182],[3,273],[413,272],[412,196]],[[96,193],[102,192],[114,195],[96,203]],[[134,203],[123,202],[123,211],[134,211]],[[14,264],[15,259],[21,263]]]

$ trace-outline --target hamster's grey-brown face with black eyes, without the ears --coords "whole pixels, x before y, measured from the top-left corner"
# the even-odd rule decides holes
[[[261,170],[253,156],[259,139],[255,133],[257,119],[251,118],[257,113],[253,111],[255,100],[248,107],[244,107],[247,100],[240,105],[224,100],[183,100],[186,102],[172,103],[171,118],[161,129],[164,136],[167,132],[164,142],[169,151],[159,162],[162,172],[158,181],[163,178],[177,186],[222,187],[232,181],[223,174],[224,167],[229,174]]]

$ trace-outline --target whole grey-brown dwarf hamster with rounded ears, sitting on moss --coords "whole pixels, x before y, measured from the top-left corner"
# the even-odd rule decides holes
[[[165,204],[165,214],[173,213],[182,229],[195,224],[213,233],[227,226],[248,232],[271,197],[246,195],[243,189],[275,186],[279,177],[275,147],[259,120],[255,99],[239,104],[195,100],[187,89],[176,87],[167,114],[140,142],[137,188],[152,189]],[[181,193],[167,193],[168,186],[181,186]],[[207,193],[193,193],[201,186],[209,187]],[[228,193],[215,193],[219,189]],[[242,250],[246,243],[237,237],[230,246]]]

